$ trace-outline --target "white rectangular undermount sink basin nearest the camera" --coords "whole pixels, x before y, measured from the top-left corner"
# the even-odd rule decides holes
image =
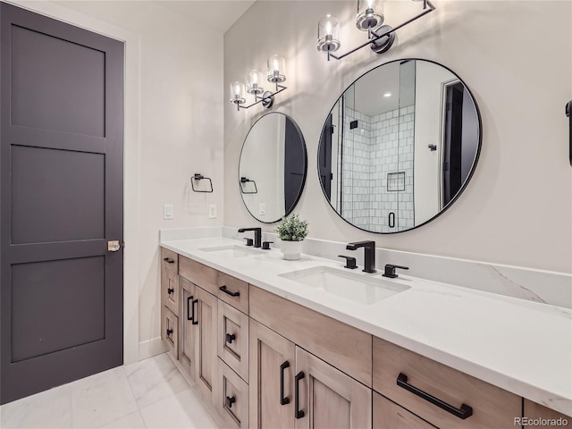
[[[282,273],[280,276],[316,290],[324,290],[332,295],[368,305],[409,289],[409,286],[400,283],[358,273],[346,273],[329,266],[315,266]]]

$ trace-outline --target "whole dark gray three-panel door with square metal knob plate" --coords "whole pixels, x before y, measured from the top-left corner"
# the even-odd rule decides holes
[[[5,403],[122,365],[123,44],[0,15]]]

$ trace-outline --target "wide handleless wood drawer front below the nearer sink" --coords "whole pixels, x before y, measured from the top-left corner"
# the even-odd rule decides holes
[[[371,387],[369,333],[252,285],[250,317]]]

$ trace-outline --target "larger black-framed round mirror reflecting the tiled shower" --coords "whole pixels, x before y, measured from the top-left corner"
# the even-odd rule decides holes
[[[480,148],[467,85],[441,64],[400,60],[366,72],[338,99],[322,130],[318,173],[346,222],[408,231],[458,198]]]

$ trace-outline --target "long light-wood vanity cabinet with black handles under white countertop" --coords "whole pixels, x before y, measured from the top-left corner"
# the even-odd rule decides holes
[[[501,429],[524,413],[572,429],[570,416],[523,407],[509,391],[170,250],[161,257],[163,341],[223,427]]]

